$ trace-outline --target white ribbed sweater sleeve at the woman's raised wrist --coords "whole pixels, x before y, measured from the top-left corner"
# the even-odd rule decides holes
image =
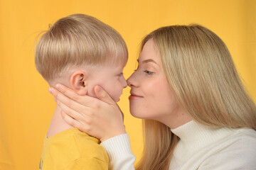
[[[117,135],[105,140],[100,145],[107,151],[110,170],[134,170],[136,157],[132,154],[128,134]]]

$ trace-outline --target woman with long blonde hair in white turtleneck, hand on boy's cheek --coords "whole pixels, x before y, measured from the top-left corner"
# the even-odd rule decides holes
[[[198,25],[159,28],[142,41],[138,61],[127,79],[130,112],[144,125],[137,169],[255,169],[255,103],[215,33]],[[102,140],[114,169],[133,169],[121,114],[105,91],[95,88],[102,102],[59,87],[73,98],[54,90],[63,118]]]

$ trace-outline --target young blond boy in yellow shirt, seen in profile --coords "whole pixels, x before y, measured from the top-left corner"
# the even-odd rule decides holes
[[[122,74],[127,58],[122,36],[84,14],[55,22],[36,47],[36,69],[50,86],[60,83],[80,95],[95,96],[93,87],[100,85],[116,102],[127,86]],[[99,143],[65,123],[56,106],[39,169],[108,169],[107,153]]]

